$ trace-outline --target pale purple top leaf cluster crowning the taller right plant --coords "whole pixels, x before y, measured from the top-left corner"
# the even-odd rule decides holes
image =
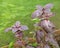
[[[45,18],[45,17],[51,17],[54,16],[54,14],[51,12],[51,9],[53,8],[53,4],[49,3],[46,4],[44,7],[37,5],[36,11],[32,13],[32,18]]]

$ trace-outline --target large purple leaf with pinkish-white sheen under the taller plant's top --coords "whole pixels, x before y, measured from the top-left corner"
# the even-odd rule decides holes
[[[55,30],[55,26],[50,20],[42,20],[39,23],[39,26],[42,27],[47,33],[53,33]]]

